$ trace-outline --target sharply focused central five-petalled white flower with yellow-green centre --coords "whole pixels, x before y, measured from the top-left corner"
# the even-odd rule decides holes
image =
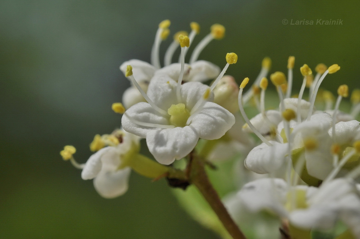
[[[130,107],[122,117],[123,128],[146,138],[150,152],[163,164],[185,157],[194,149],[199,137],[219,139],[235,123],[229,111],[202,100],[205,92],[210,93],[208,86],[200,82],[181,85],[181,102],[178,102],[176,89],[177,82],[169,76],[154,77],[149,84],[148,97],[167,115],[159,113],[149,103],[140,102]],[[212,98],[211,94],[208,100]],[[199,100],[203,101],[202,106],[196,105]],[[198,109],[194,108],[195,105]]]

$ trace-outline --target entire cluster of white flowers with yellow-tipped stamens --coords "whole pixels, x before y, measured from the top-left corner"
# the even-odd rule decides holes
[[[186,53],[200,27],[192,22],[189,35],[175,33],[161,67],[159,48],[169,27],[168,20],[159,24],[150,63],[132,59],[120,66],[131,81],[122,103],[112,105],[114,112],[123,114],[122,128],[96,135],[90,144],[95,153],[85,164],[75,161],[76,149],[69,145],[60,153],[63,159],[82,169],[82,179],[94,179],[100,195],[114,198],[126,192],[131,170],[153,179],[166,177],[179,169],[176,161],[196,151],[213,168],[233,162],[227,176],[235,186],[223,200],[240,226],[249,212],[270,212],[279,219],[284,238],[310,238],[311,230],[333,229],[339,221],[347,230],[333,231],[335,236],[360,238],[360,91],[352,91],[352,109],[346,113],[339,108],[349,95],[346,85],[339,86],[336,100],[320,88],[340,67],[319,64],[314,77],[306,64],[293,72],[295,58],[289,57],[287,77],[279,71],[270,75],[279,104],[266,110],[269,58],[264,58],[258,77],[244,93],[249,78],[239,89],[234,77],[224,76],[237,62],[235,53],[226,55],[222,71],[198,60],[207,44],[224,37],[222,25],[211,26],[188,63]],[[180,57],[172,63],[178,48]],[[300,73],[301,89],[292,96],[293,75]],[[206,81],[212,81],[210,86]],[[321,103],[325,106],[316,109]],[[246,111],[258,114],[249,119]],[[262,143],[256,143],[253,133]],[[141,138],[156,161],[139,154]],[[205,219],[197,220],[207,225]],[[261,231],[260,227],[253,224],[253,230]],[[268,235],[259,232],[255,238]]]

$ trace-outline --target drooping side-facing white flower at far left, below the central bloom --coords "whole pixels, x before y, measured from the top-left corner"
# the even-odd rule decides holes
[[[115,198],[127,191],[131,168],[123,163],[139,151],[140,138],[122,132],[121,142],[90,156],[82,170],[84,180],[94,179],[96,191],[104,198]]]

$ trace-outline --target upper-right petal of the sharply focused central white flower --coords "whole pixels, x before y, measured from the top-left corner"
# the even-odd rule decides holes
[[[210,87],[200,82],[187,82],[181,85],[181,100],[186,105],[186,108],[191,111],[194,105],[201,99],[207,89]],[[207,101],[212,102],[214,94],[211,93]]]

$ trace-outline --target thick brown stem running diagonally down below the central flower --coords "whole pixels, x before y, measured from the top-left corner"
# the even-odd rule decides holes
[[[239,227],[230,217],[224,204],[222,204],[219,195],[212,187],[205,172],[204,162],[197,157],[194,157],[192,160],[192,175],[190,176],[190,181],[199,189],[229,234],[234,239],[246,239]]]

